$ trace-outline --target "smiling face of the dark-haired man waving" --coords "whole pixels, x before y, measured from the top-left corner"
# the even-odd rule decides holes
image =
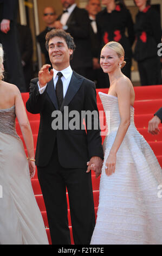
[[[53,68],[56,70],[66,69],[70,64],[70,55],[73,54],[73,50],[68,48],[64,38],[55,36],[49,40],[48,46],[49,58]]]

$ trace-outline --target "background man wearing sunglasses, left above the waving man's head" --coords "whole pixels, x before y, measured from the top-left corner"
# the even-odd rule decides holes
[[[43,21],[46,23],[46,28],[37,35],[37,41],[40,43],[41,52],[44,54],[45,57],[45,64],[50,64],[49,54],[46,50],[46,34],[54,29],[54,23],[57,19],[56,11],[53,7],[46,7],[43,11]]]

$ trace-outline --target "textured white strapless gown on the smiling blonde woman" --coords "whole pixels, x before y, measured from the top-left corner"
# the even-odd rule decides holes
[[[158,187],[162,185],[161,167],[134,125],[131,106],[131,124],[116,154],[115,173],[106,175],[105,162],[118,131],[120,114],[117,97],[101,92],[99,95],[104,111],[109,111],[109,131],[103,143],[105,159],[91,244],[162,244],[162,198]]]

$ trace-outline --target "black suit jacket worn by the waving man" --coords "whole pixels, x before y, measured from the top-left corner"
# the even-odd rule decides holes
[[[80,129],[53,130],[51,124],[56,121],[57,116],[52,117],[52,113],[58,110],[53,79],[47,84],[43,94],[38,92],[37,81],[38,78],[31,80],[30,97],[26,104],[30,113],[40,113],[41,117],[35,156],[36,165],[43,167],[48,164],[56,139],[59,162],[64,168],[87,168],[87,161],[92,156],[99,156],[103,159],[100,127],[97,130],[93,129],[94,121],[99,123],[99,119],[92,118],[92,129],[87,129],[87,133],[85,130],[81,130],[83,121],[81,111],[95,110],[98,112],[95,84],[73,71],[60,111],[63,115],[64,106],[68,106],[68,115],[66,115],[68,123],[75,117],[69,117],[69,112],[77,111]]]

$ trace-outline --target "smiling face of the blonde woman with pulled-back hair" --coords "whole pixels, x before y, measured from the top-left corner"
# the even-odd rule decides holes
[[[107,46],[103,47],[100,56],[100,65],[104,73],[112,73],[116,69],[119,69],[124,60],[124,57],[119,58],[118,54]]]

